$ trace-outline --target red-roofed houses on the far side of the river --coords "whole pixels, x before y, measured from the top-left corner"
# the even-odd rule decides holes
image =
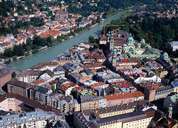
[[[79,14],[69,13],[66,6],[50,6],[49,11],[42,11],[38,8],[34,8],[36,11],[31,14],[19,15],[17,13],[14,16],[4,17],[4,22],[12,24],[13,22],[30,22],[32,18],[40,18],[44,21],[44,25],[35,27],[27,26],[25,28],[18,28],[18,33],[15,35],[8,33],[0,36],[0,53],[3,53],[7,48],[13,48],[14,45],[25,44],[27,39],[33,39],[35,35],[42,38],[53,37],[57,38],[62,35],[69,35],[71,32],[76,31],[79,28],[86,28],[93,25],[101,14],[92,13],[88,17],[82,17]],[[51,12],[51,16],[48,16]],[[81,19],[78,21],[78,19]]]

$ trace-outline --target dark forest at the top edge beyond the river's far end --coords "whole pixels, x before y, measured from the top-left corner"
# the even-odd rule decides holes
[[[71,0],[66,0],[71,1]],[[106,12],[110,9],[121,9],[129,6],[140,5],[140,4],[155,4],[154,0],[98,0],[97,5],[92,4],[91,0],[80,0],[80,6],[75,2],[68,2],[69,12],[79,13],[83,16],[89,15],[91,12]],[[87,2],[86,2],[87,1]]]

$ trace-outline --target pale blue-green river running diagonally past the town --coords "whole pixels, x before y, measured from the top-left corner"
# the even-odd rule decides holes
[[[87,42],[88,37],[90,35],[96,36],[97,32],[102,30],[103,26],[110,23],[112,20],[116,20],[122,15],[125,14],[125,11],[120,11],[117,14],[114,14],[112,16],[108,16],[103,23],[97,24],[93,27],[91,27],[88,30],[82,31],[78,35],[74,36],[73,38],[70,38],[68,40],[63,41],[62,43],[58,43],[46,50],[39,51],[35,54],[26,56],[23,59],[19,59],[17,61],[11,62],[9,64],[10,67],[12,67],[15,70],[24,70],[28,69],[38,63],[46,62],[49,60],[54,59],[58,55],[62,54],[72,46],[79,44],[81,42]]]

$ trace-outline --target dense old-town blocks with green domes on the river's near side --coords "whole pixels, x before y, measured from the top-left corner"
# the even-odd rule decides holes
[[[159,109],[150,103],[160,99],[165,99],[172,119],[177,67],[168,55],[120,30],[101,35],[100,45],[109,52],[81,43],[50,62],[18,72],[4,90],[35,102],[31,107],[38,103],[73,114],[76,127],[147,128]],[[174,77],[167,82],[169,75]],[[20,103],[13,110],[21,111]],[[7,111],[7,106],[1,109]]]

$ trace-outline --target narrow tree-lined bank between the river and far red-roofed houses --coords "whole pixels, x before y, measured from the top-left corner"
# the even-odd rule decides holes
[[[101,19],[100,19],[101,20]],[[32,55],[32,54],[36,54],[42,50],[46,50],[50,47],[53,47],[55,45],[58,45],[59,43],[63,43],[65,40],[68,40],[68,39],[71,39],[73,38],[74,36],[77,36],[78,34],[80,34],[81,32],[87,30],[87,29],[90,29],[90,27],[94,27],[95,25],[97,25],[100,21],[93,21],[93,24],[89,25],[89,26],[86,26],[84,28],[78,28],[76,29],[75,31],[72,31],[70,32],[69,34],[67,35],[61,35],[61,36],[58,36],[57,38],[53,38],[53,37],[49,37],[50,38],[50,42],[48,42],[48,38],[41,38],[41,37],[38,37],[36,36],[38,39],[37,41],[40,40],[41,43],[42,40],[46,42],[47,45],[39,45],[38,47],[36,47],[36,45],[33,45],[33,43],[30,43],[30,44],[23,44],[21,45],[20,48],[18,48],[19,50],[21,50],[23,48],[23,55],[13,55],[14,53],[14,50],[12,49],[10,52],[10,55],[13,55],[11,57],[6,57],[5,55],[1,55],[1,59],[0,59],[0,62],[1,63],[5,63],[5,64],[10,64],[14,61],[18,61],[20,59],[24,59],[25,57],[29,56],[29,55]],[[36,40],[34,41],[35,39],[32,39],[31,42],[36,42]],[[49,45],[48,45],[49,44]],[[19,47],[19,46],[16,46],[16,47]],[[25,47],[25,48],[24,48]],[[26,49],[26,47],[30,47],[31,50],[24,50]],[[35,48],[34,48],[35,47]],[[16,50],[17,52],[17,50]],[[8,54],[9,55],[9,54]]]

